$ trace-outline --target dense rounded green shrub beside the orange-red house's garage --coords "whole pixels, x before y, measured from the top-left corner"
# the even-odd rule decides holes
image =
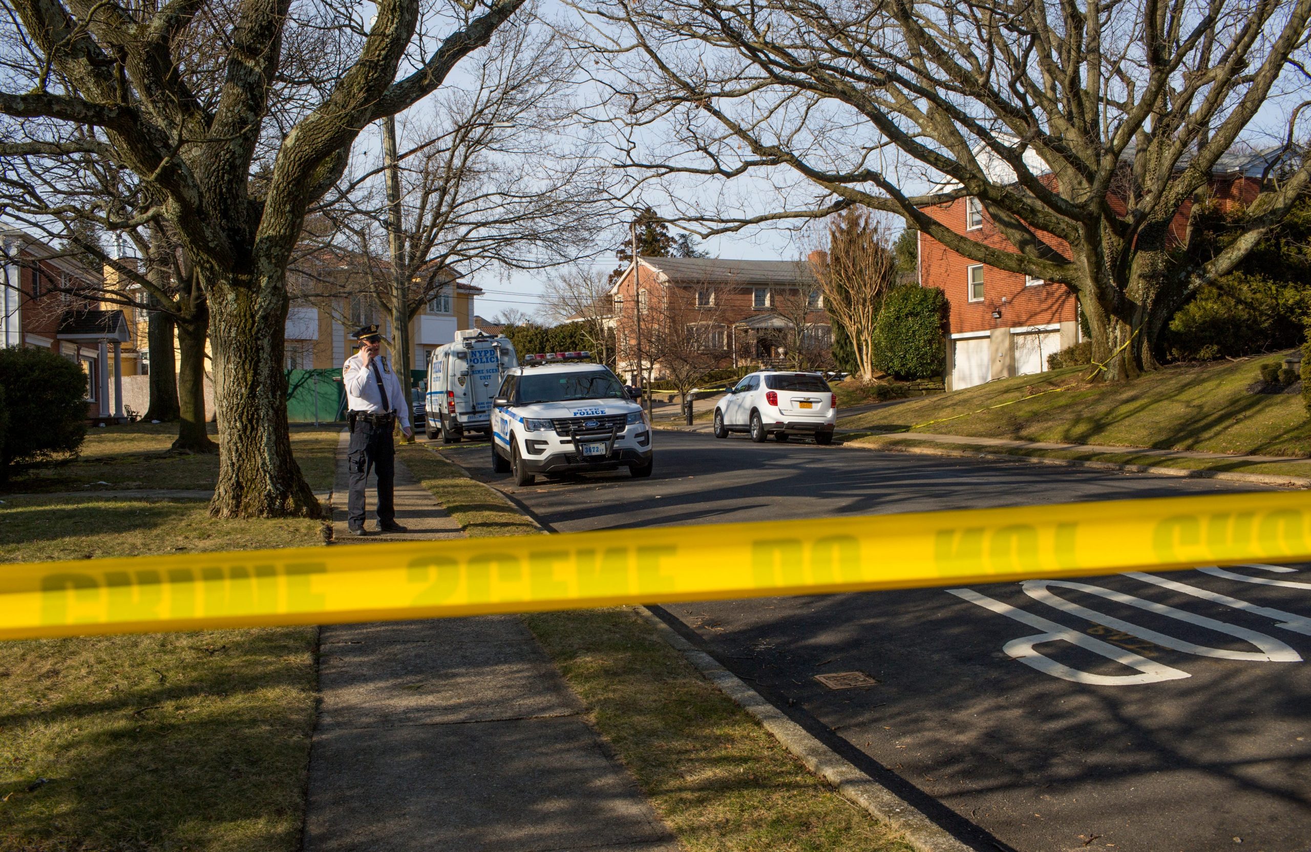
[[[927,379],[947,366],[947,296],[937,287],[902,284],[884,299],[874,324],[874,367],[898,379]]]

